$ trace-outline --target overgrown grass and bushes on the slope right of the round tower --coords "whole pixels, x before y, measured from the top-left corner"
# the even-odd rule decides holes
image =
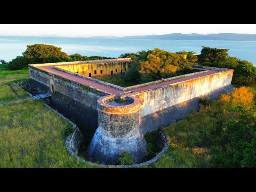
[[[149,167],[256,167],[256,90],[236,88],[164,128],[170,148]]]

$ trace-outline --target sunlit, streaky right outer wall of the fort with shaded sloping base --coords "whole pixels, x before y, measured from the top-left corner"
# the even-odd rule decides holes
[[[204,69],[210,69],[204,67]],[[217,70],[220,68],[216,68]],[[140,130],[143,134],[170,124],[191,112],[198,111],[198,97],[218,99],[234,89],[231,85],[233,71],[222,71],[152,90],[132,94],[142,102]]]

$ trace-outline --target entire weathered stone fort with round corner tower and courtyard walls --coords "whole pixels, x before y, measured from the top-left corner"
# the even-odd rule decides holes
[[[234,89],[233,70],[195,65],[190,74],[128,87],[94,78],[125,73],[132,63],[120,58],[30,64],[27,86],[34,94],[52,92],[51,105],[92,137],[86,157],[105,164],[117,162],[123,150],[141,162],[146,132],[197,111],[198,97],[217,99]]]

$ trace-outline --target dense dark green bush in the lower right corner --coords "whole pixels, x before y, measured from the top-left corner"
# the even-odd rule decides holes
[[[220,145],[212,147],[215,167],[256,167],[256,108],[241,108],[238,119],[224,123],[218,136]]]

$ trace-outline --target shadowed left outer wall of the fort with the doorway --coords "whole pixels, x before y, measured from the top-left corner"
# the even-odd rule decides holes
[[[92,137],[98,127],[97,100],[108,93],[33,66],[29,67],[29,71],[28,91],[32,94],[52,92],[51,85],[53,85],[51,106],[76,122],[83,133]]]

